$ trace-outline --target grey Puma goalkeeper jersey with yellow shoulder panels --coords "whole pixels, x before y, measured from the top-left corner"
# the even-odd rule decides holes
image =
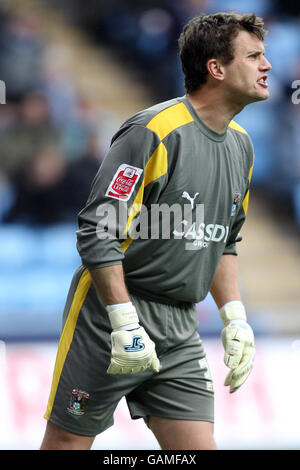
[[[123,263],[129,292],[162,303],[207,295],[223,254],[237,254],[253,167],[246,131],[208,128],[184,96],[128,119],[80,212],[89,269]]]

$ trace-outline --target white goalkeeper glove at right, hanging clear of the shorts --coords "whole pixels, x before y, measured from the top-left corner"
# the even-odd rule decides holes
[[[231,369],[224,385],[235,392],[249,376],[254,362],[254,334],[247,323],[245,307],[239,300],[227,302],[220,309],[224,324],[222,343],[225,349],[224,362]]]

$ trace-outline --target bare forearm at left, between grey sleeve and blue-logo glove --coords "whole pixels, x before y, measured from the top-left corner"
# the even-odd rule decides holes
[[[122,264],[93,269],[90,273],[105,306],[131,301],[124,280]]]

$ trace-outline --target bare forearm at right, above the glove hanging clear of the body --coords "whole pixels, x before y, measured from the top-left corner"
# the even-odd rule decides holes
[[[210,288],[210,293],[219,309],[227,302],[241,300],[238,285],[237,256],[223,255],[221,257]]]

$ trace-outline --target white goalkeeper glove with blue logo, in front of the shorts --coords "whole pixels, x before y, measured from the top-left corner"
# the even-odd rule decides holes
[[[108,374],[135,374],[150,367],[159,372],[155,344],[144,328],[131,302],[106,307],[111,333],[111,362]]]

